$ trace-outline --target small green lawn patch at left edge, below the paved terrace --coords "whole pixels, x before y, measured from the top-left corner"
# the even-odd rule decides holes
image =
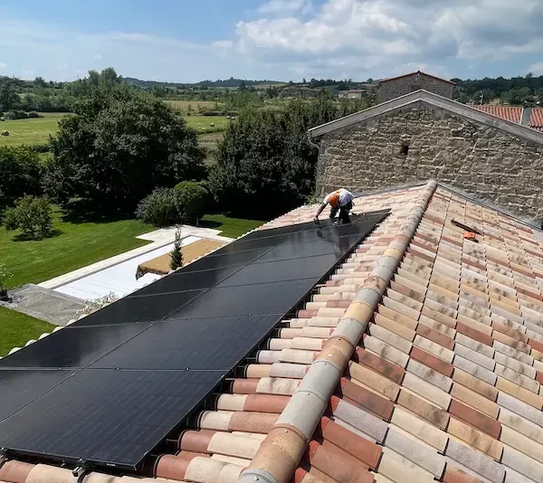
[[[23,347],[29,340],[37,340],[44,332],[52,332],[54,326],[0,307],[0,356],[5,356],[14,347]]]

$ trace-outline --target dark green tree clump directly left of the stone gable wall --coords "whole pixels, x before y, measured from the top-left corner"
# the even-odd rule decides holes
[[[339,115],[326,93],[280,111],[243,111],[226,129],[210,174],[221,209],[262,219],[303,203],[315,189],[318,156],[307,130]]]

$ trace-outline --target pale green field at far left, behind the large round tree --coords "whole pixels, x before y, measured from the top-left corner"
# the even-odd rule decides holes
[[[48,113],[47,117],[44,118],[0,122],[0,129],[9,131],[9,136],[0,136],[0,146],[45,144],[49,141],[50,135],[56,135],[59,130],[58,122],[65,115]]]

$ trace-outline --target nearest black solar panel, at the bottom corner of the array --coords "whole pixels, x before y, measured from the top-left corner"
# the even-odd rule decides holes
[[[225,374],[85,369],[3,421],[0,445],[134,469]]]

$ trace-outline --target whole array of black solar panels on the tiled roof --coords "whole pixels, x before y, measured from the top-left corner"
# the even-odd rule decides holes
[[[0,361],[0,447],[136,469],[386,213],[252,232]]]

